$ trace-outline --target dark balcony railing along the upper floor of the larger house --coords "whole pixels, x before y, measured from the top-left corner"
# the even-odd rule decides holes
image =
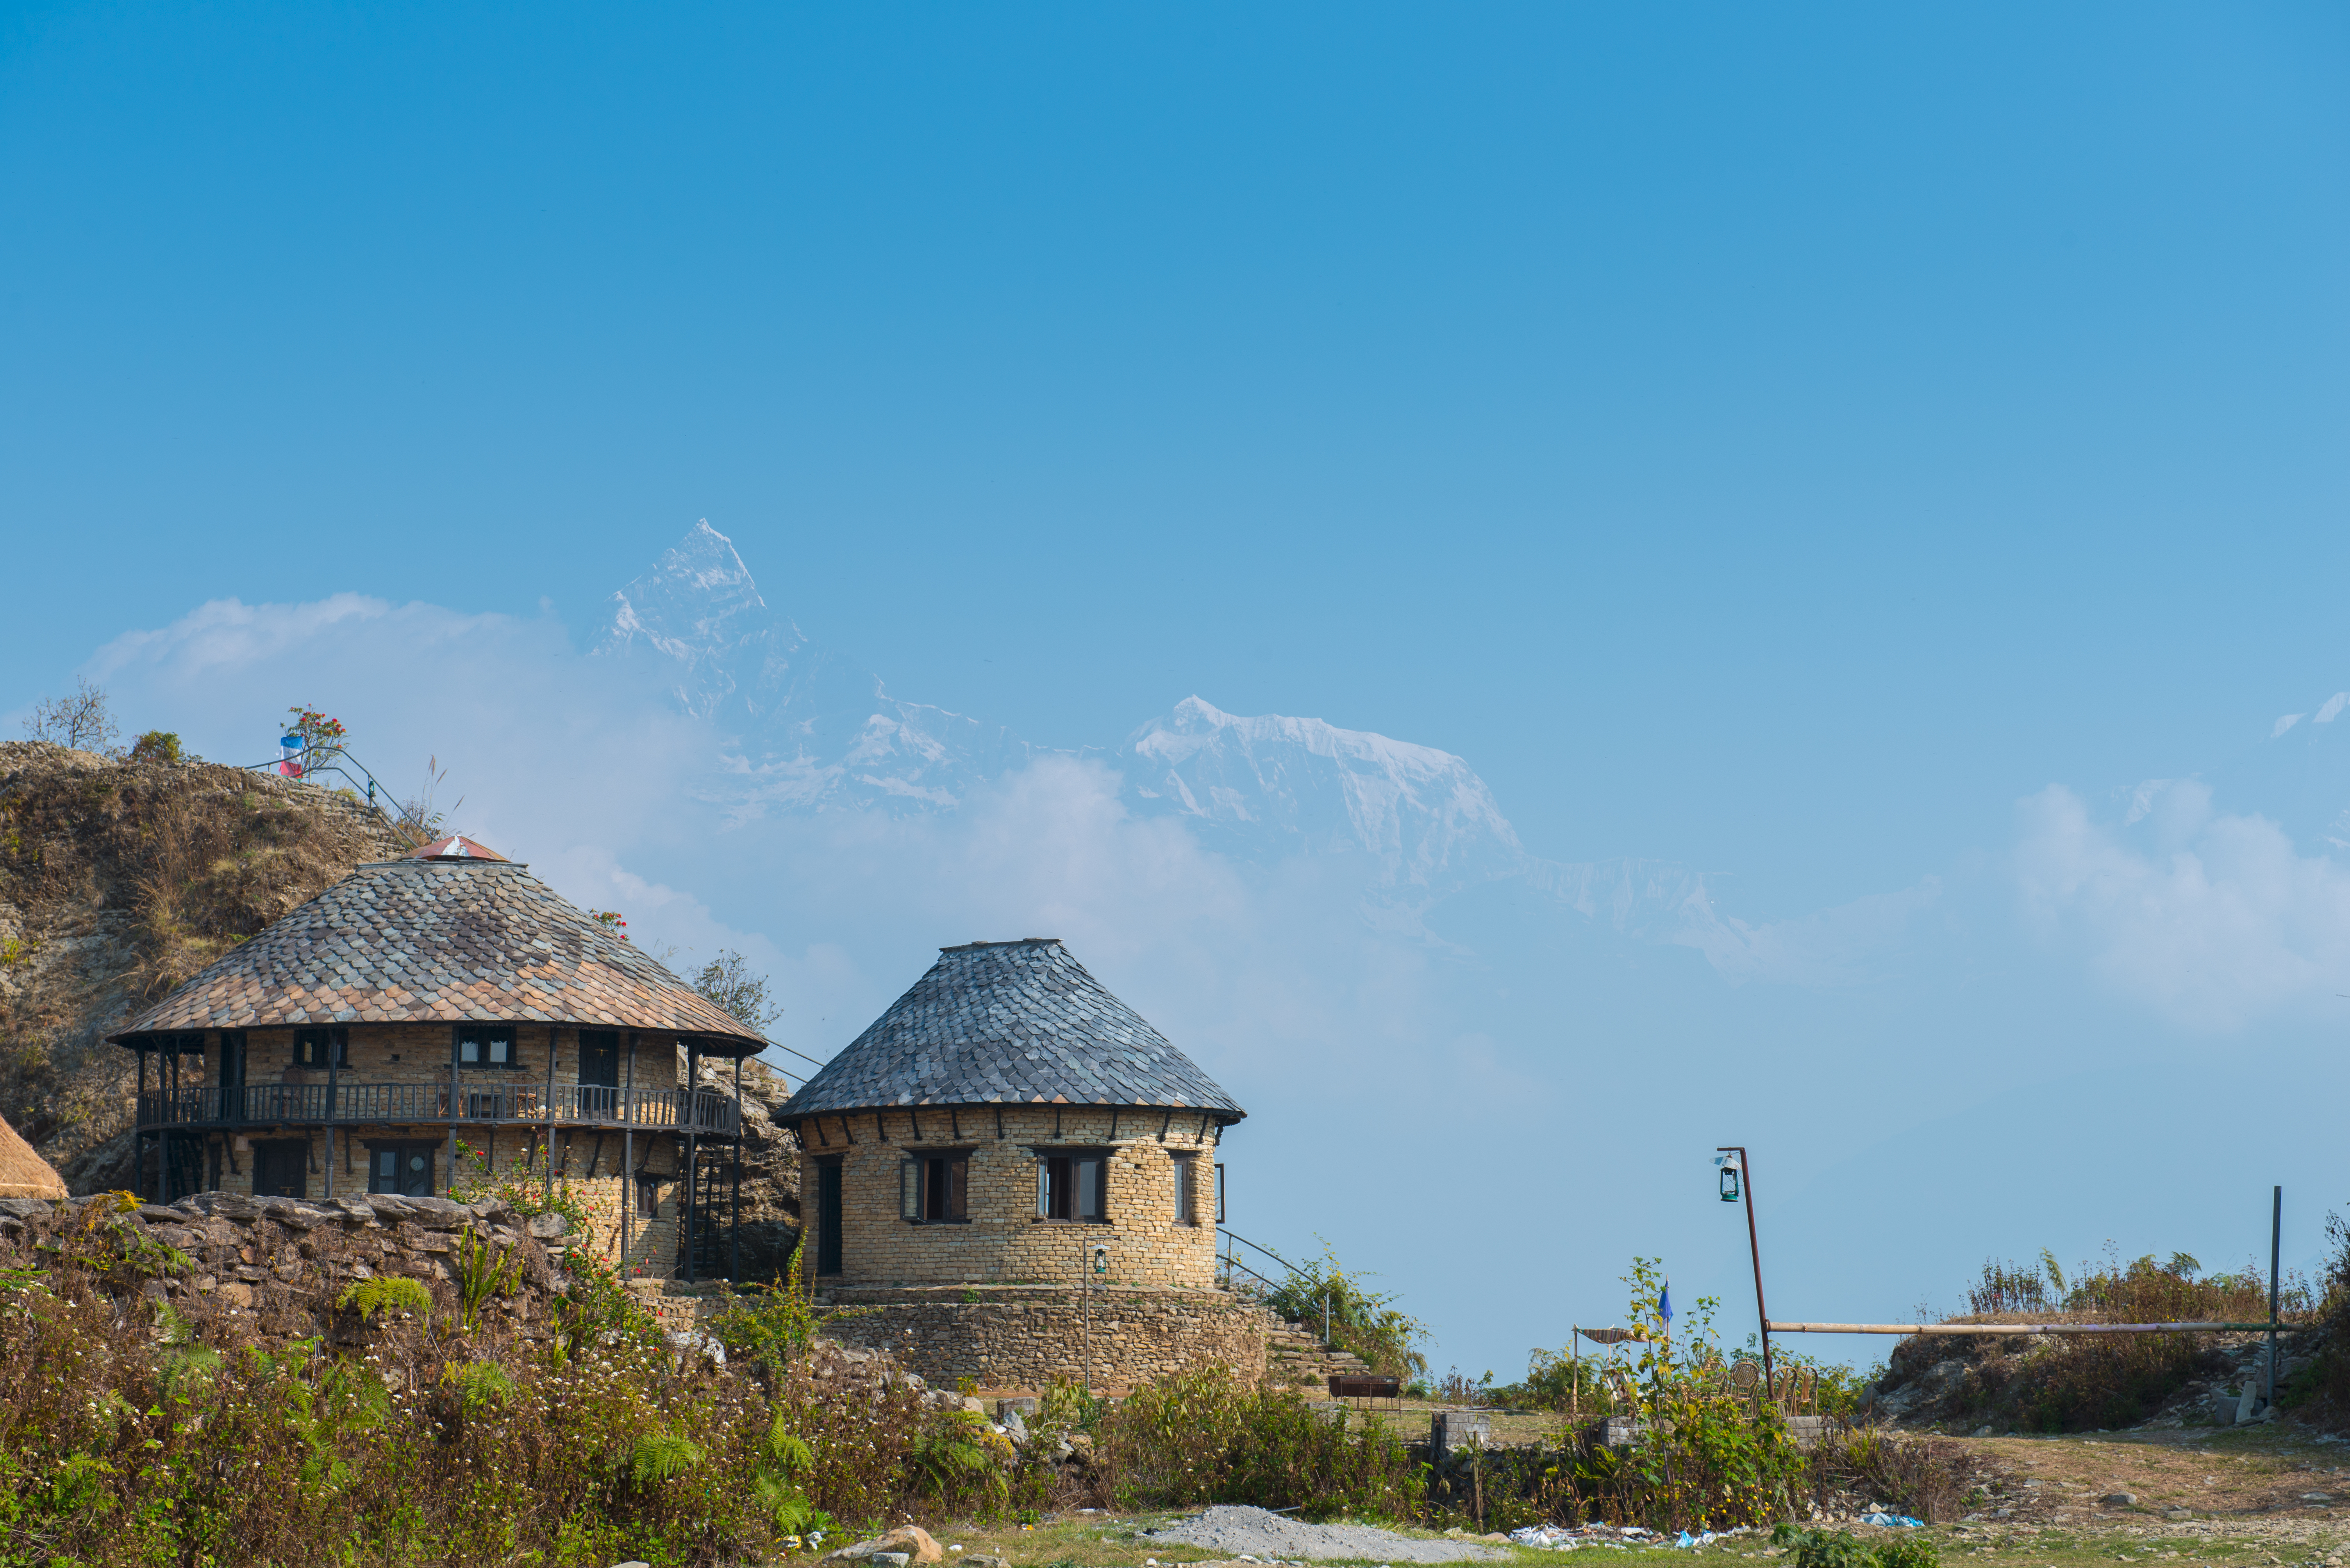
[[[331,1101],[329,1101],[331,1089]],[[150,1089],[139,1127],[277,1127],[449,1122],[449,1084],[242,1084]],[[710,1089],[609,1089],[604,1084],[458,1084],[458,1122],[548,1122],[557,1127],[651,1127],[731,1138],[743,1113]]]

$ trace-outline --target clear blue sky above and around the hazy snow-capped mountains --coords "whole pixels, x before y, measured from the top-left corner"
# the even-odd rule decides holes
[[[12,7],[0,709],[204,603],[350,592],[432,610],[369,622],[395,662],[446,617],[494,648],[400,690],[237,667],[212,707],[129,671],[181,707],[127,716],[263,756],[301,695],[465,753],[519,723],[465,683],[571,669],[707,516],[811,634],[1039,744],[1201,692],[1455,751],[1532,852],[1699,866],[1755,925],[1932,885],[1932,934],[1845,915],[1906,932],[1861,944],[1894,953],[1866,984],[1570,960],[1476,899],[1436,925],[1513,979],[1525,1012],[1462,1026],[1504,1059],[1589,1012],[1610,1054],[1697,1061],[1708,1115],[1807,1084],[1770,1094],[1824,1192],[1878,1185],[1833,1174],[1875,1134],[2016,1192],[2143,1188],[2204,1148],[2197,1077],[2345,1087],[2319,981],[2232,946],[2225,998],[2186,995],[2129,922],[2162,906],[2131,878],[2265,812],[2284,859],[2237,843],[2244,887],[2312,901],[2247,930],[2341,953],[2350,772],[2270,732],[2350,685],[2345,82],[2334,7]],[[458,683],[430,723],[428,676]],[[2115,791],[2186,777],[2204,817],[2124,822]],[[653,852],[630,833],[564,847]],[[2127,876],[2094,911],[2033,894],[2066,854]],[[822,946],[703,897],[778,965]],[[1361,1080],[1450,1047],[1396,1049]],[[1565,1094],[1574,1049],[1511,1082]],[[2019,1073],[2110,1115],[2000,1110]],[[2178,1228],[2289,1178],[2265,1094],[2216,1096],[2244,1162],[2171,1195]],[[1640,1103],[1607,1115],[1676,1120]],[[1577,1169],[1560,1115],[1523,1136]],[[2082,1246],[2160,1228],[2115,1188],[2068,1188]],[[2343,1197],[2312,1188],[2305,1246]],[[1281,1225],[1394,1253],[1370,1218]],[[1603,1312],[1638,1235],[1572,1242],[1612,1251],[1558,1298]],[[1845,1239],[1807,1256],[1859,1282]],[[1967,1246],[1920,1244],[1873,1310],[1948,1296]],[[1438,1300],[1462,1359],[1537,1333]]]

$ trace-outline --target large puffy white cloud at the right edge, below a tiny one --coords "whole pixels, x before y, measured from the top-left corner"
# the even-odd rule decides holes
[[[2030,796],[2016,887],[2042,941],[2193,1030],[2350,991],[2350,871],[2301,854],[2268,817],[2216,812],[2193,779],[2138,786],[2115,826],[2059,784]]]

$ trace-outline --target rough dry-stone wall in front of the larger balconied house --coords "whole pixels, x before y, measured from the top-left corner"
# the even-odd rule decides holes
[[[334,1197],[306,1204],[291,1197],[200,1192],[176,1204],[115,1211],[113,1197],[0,1199],[0,1258],[33,1261],[35,1244],[61,1228],[120,1228],[122,1242],[157,1242],[188,1258],[188,1268],[157,1265],[141,1291],[169,1300],[190,1319],[228,1317],[240,1338],[352,1338],[357,1314],[336,1300],[376,1275],[416,1279],[432,1293],[435,1312],[458,1310],[458,1249],[463,1232],[501,1258],[519,1261],[515,1291],[486,1307],[501,1326],[545,1333],[550,1300],[564,1279],[540,1232],[559,1216],[524,1221],[501,1202],[454,1204],[439,1197]]]

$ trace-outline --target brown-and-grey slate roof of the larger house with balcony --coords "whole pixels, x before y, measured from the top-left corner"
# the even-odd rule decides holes
[[[761,1045],[658,960],[503,859],[360,866],[108,1038],[430,1021],[651,1028],[696,1035],[726,1056]]]

